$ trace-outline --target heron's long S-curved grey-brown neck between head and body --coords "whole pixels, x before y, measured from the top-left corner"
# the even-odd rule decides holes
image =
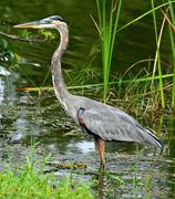
[[[61,57],[66,50],[69,43],[69,30],[68,25],[64,23],[58,29],[61,35],[60,45],[55,50],[52,56],[52,82],[54,92],[60,101],[64,101],[65,96],[69,94],[66,85],[64,83],[61,70]]]

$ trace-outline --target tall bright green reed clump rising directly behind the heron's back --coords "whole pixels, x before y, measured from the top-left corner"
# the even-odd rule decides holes
[[[119,0],[117,4],[114,4],[114,1],[111,1],[111,3],[109,4],[110,8],[107,9],[107,3],[105,0],[96,0],[97,15],[99,15],[99,24],[96,28],[100,33],[101,48],[102,48],[104,103],[106,102],[106,96],[107,96],[110,67],[112,62],[116,29],[121,13],[122,0]]]

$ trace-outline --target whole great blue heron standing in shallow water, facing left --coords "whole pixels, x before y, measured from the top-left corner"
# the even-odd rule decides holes
[[[69,93],[61,71],[61,59],[69,43],[69,29],[61,17],[52,15],[39,21],[18,24],[14,28],[56,29],[60,32],[60,45],[53,53],[51,62],[54,92],[64,111],[83,132],[94,137],[102,166],[105,165],[105,140],[151,144],[163,149],[163,143],[125,112]]]

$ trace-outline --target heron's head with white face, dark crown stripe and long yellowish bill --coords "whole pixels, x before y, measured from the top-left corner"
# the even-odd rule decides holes
[[[24,28],[24,29],[55,29],[59,28],[61,24],[63,24],[64,21],[59,15],[52,15],[49,18],[44,18],[42,20],[17,24],[14,28]]]

